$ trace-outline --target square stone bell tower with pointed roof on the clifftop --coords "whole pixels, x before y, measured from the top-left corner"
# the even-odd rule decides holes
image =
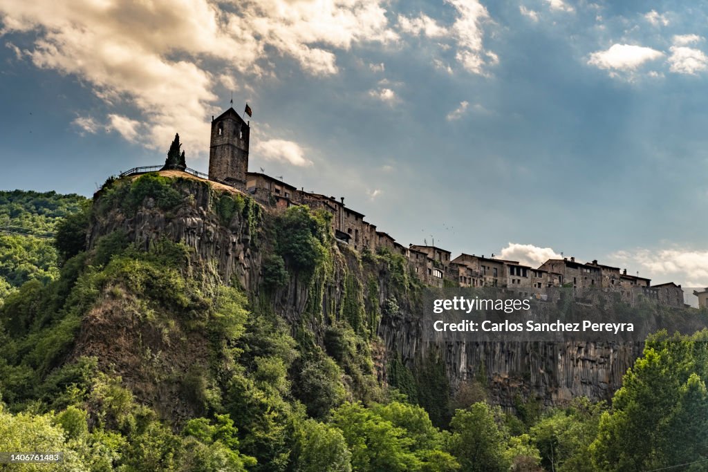
[[[209,147],[209,177],[246,188],[249,170],[249,125],[229,108],[212,119],[212,139]]]

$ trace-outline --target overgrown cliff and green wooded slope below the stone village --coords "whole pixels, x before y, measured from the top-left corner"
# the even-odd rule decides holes
[[[109,182],[57,226],[58,277],[0,308],[0,451],[72,471],[590,471],[705,450],[668,438],[707,426],[706,334],[428,345],[404,258],[352,251],[327,215],[183,173]]]

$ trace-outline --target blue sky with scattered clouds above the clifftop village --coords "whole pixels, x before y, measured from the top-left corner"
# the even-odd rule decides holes
[[[251,171],[396,240],[561,254],[708,286],[708,4],[0,0],[0,189],[206,171],[249,103]]]

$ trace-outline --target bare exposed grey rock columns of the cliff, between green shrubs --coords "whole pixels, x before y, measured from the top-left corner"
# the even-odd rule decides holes
[[[264,221],[271,216],[268,211],[261,212],[256,234],[249,221],[238,213],[228,224],[223,224],[213,211],[210,185],[213,184],[183,179],[179,188],[188,204],[171,211],[158,209],[150,197],[133,216],[111,210],[93,221],[89,247],[101,236],[117,230],[125,231],[130,241],[143,247],[159,238],[181,241],[202,260],[212,261],[222,280],[235,277],[251,295],[258,294],[261,261],[270,251]],[[100,199],[101,195],[97,195],[96,200]],[[621,385],[624,372],[641,355],[641,343],[424,342],[416,300],[392,287],[386,267],[367,269],[360,255],[346,246],[337,246],[333,252],[336,254],[333,274],[321,294],[321,319],[337,318],[346,292],[346,277],[355,277],[360,287],[367,287],[370,280],[375,280],[376,297],[367,298],[365,304],[367,311],[382,313],[377,334],[383,349],[374,360],[383,381],[387,359],[399,356],[414,369],[418,359],[433,355],[444,364],[453,391],[481,379],[490,401],[504,408],[513,409],[519,400],[561,405],[576,396],[587,396],[593,401],[611,398]],[[309,297],[309,287],[291,280],[272,301],[275,312],[292,324],[305,316]],[[394,311],[387,309],[391,297],[399,305]],[[322,322],[307,323],[307,328],[319,338]]]

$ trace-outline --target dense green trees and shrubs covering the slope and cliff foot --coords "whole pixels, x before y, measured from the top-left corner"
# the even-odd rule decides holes
[[[376,325],[402,297],[378,312],[364,303],[377,282],[347,277],[336,317],[312,304],[297,324],[272,303],[297,280],[321,304],[318,281],[339,257],[326,214],[265,214],[248,197],[208,190],[215,220],[244,221],[249,244],[268,249],[257,294],[182,241],[144,246],[112,231],[86,247],[91,221],[112,212],[194,205],[185,185],[195,184],[109,181],[94,205],[0,194],[7,226],[55,234],[0,236],[0,451],[64,452],[61,464],[7,470],[707,469],[707,332],[653,335],[610,404],[503,411],[484,379],[453,395],[435,359],[389,355],[381,381]],[[419,289],[392,253],[352,257],[356,270],[385,272],[394,294]],[[101,335],[112,350],[91,350]],[[118,367],[126,362],[134,368]]]

